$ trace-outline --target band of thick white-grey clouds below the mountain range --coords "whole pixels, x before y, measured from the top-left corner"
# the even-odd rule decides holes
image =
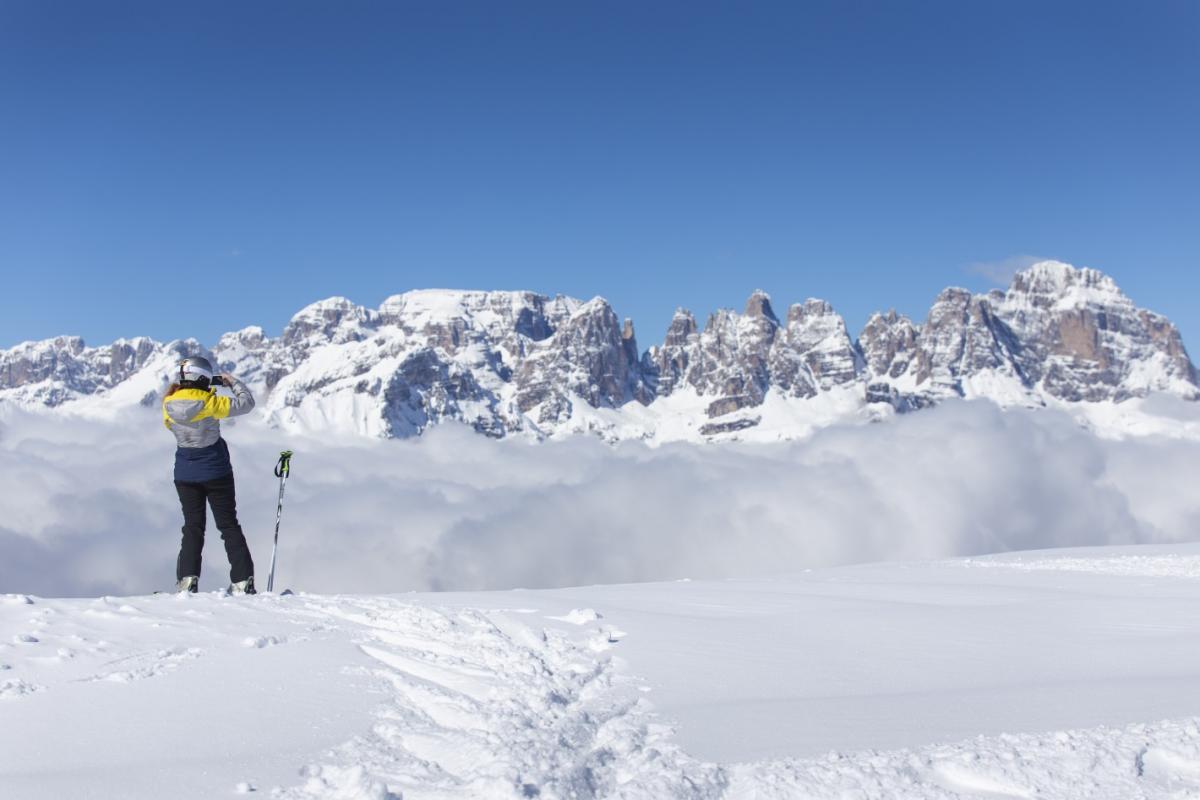
[[[144,413],[143,413],[144,411]],[[296,452],[277,585],[542,588],[796,572],[1079,545],[1200,539],[1200,443],[1097,438],[1052,411],[947,403],[775,445],[533,444],[444,426],[326,440],[226,423],[265,583],[278,451]],[[174,439],[120,422],[0,414],[0,593],[174,583]],[[226,585],[210,521],[202,589]]]

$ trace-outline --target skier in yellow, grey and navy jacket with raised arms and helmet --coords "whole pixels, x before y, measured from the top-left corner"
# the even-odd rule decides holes
[[[184,510],[184,540],[175,563],[175,590],[199,590],[206,499],[229,557],[229,591],[256,594],[254,561],[238,524],[233,464],[218,422],[248,413],[254,408],[254,398],[246,384],[233,375],[214,375],[212,365],[199,356],[180,361],[172,378],[174,383],[162,399],[162,421],[179,445],[175,491]],[[217,395],[214,385],[228,386],[233,398]]]

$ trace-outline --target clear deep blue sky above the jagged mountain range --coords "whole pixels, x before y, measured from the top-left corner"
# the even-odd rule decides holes
[[[1033,254],[1196,355],[1198,86],[1190,0],[4,0],[0,347],[421,287],[857,333]]]

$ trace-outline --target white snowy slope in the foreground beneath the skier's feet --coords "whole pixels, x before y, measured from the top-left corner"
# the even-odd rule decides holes
[[[1200,546],[0,599],[0,796],[1189,798]]]

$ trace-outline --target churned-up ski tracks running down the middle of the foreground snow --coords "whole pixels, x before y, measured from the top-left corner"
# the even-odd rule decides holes
[[[718,798],[610,657],[503,613],[394,599],[310,601],[360,628],[391,698],[368,733],[306,768],[289,800]]]

